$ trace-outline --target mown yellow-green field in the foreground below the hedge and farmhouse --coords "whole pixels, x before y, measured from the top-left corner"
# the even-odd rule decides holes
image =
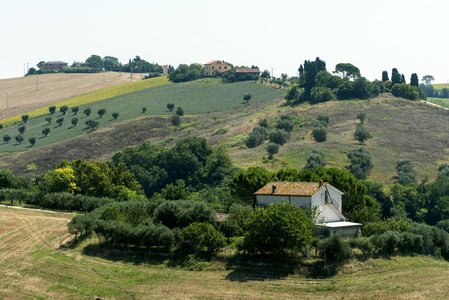
[[[68,246],[72,214],[0,207],[1,299],[447,299],[449,263],[430,257],[351,261],[317,278],[225,261],[203,271],[169,258]]]

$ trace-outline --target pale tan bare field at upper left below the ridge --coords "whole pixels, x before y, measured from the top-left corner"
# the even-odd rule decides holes
[[[53,105],[95,90],[129,83],[129,73],[45,74],[0,80],[0,119]],[[133,74],[133,82],[140,74]],[[37,90],[37,88],[39,88]],[[0,121],[1,122],[1,121]]]

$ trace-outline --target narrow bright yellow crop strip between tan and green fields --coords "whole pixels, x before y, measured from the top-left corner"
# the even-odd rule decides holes
[[[58,102],[57,105],[55,105],[55,106],[57,106],[58,108],[63,105],[66,105],[69,107],[81,106],[81,105],[89,104],[92,102],[101,101],[101,100],[112,98],[115,96],[131,93],[131,92],[135,92],[135,91],[140,91],[140,90],[148,89],[148,88],[155,87],[158,85],[165,85],[165,84],[169,84],[167,77],[157,77],[157,78],[152,78],[152,79],[147,79],[147,80],[135,81],[135,82],[125,83],[125,84],[93,91],[88,94],[75,96],[73,98]],[[48,107],[42,107],[37,110],[27,112],[27,114],[30,116],[30,118],[40,117],[40,116],[48,114]],[[20,122],[20,120],[21,120],[21,116],[17,115],[17,116],[2,120],[2,124],[4,126],[9,126],[11,124]]]

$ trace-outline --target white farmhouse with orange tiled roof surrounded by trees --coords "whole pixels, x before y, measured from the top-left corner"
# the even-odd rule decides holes
[[[344,193],[327,182],[274,181],[254,194],[256,203],[261,206],[285,202],[304,209],[317,207],[325,235],[340,234],[345,238],[360,235],[362,224],[348,222],[343,215]]]

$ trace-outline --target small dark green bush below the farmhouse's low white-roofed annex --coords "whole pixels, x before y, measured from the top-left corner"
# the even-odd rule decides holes
[[[343,262],[352,257],[351,247],[338,234],[319,241],[317,248],[328,262]]]

